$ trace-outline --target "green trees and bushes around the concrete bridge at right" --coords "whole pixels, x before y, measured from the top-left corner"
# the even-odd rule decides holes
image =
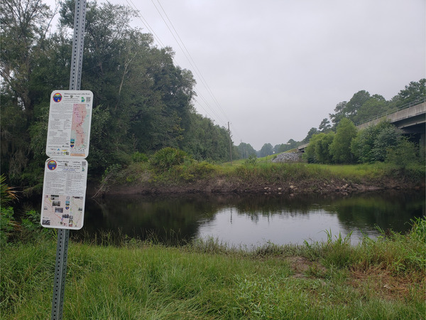
[[[381,114],[396,112],[401,107],[425,101],[425,98],[426,79],[410,82],[391,100],[386,100],[382,95],[371,95],[368,91],[361,90],[356,92],[349,101],[339,102],[334,108],[334,113],[329,114],[329,118],[322,119],[318,128],[312,127],[302,141],[296,142],[290,139],[286,144],[275,146],[263,144],[258,156],[277,154],[307,143],[310,143],[306,154],[308,161],[328,164],[384,161],[386,150],[397,145],[409,148],[411,151],[407,152],[410,153],[413,150],[410,143],[417,139],[404,136],[390,123],[383,122],[359,132],[356,130],[356,125]],[[334,142],[336,137],[337,140]],[[378,140],[374,146],[376,138]],[[342,139],[347,141],[343,142]],[[355,140],[351,146],[352,139]],[[370,140],[367,142],[367,139]],[[415,147],[418,149],[419,146]]]

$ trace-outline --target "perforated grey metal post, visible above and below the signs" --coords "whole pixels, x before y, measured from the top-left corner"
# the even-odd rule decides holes
[[[86,0],[76,0],[74,16],[74,39],[72,43],[70,90],[80,90],[82,77],[85,21]],[[62,319],[69,238],[69,229],[58,229],[58,244],[56,247],[55,282],[53,283],[51,319]]]

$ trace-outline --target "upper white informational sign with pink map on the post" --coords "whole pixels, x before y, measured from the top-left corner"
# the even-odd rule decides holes
[[[85,159],[89,154],[93,93],[56,90],[50,95],[48,141],[50,157]]]

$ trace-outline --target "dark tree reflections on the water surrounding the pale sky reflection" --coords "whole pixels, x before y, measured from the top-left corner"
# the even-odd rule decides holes
[[[170,234],[190,239],[200,225],[214,221],[218,213],[247,215],[257,223],[273,215],[296,217],[315,212],[337,214],[346,230],[381,228],[408,230],[403,222],[425,214],[423,193],[364,193],[354,196],[215,195],[125,196],[87,201],[84,229],[118,230],[131,237]]]

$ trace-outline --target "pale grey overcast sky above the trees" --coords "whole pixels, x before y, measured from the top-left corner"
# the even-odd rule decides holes
[[[231,122],[234,143],[256,150],[304,139],[359,90],[389,100],[426,77],[425,0],[110,2],[136,6],[134,25],[148,32],[147,21],[175,63],[194,73],[197,112]]]

